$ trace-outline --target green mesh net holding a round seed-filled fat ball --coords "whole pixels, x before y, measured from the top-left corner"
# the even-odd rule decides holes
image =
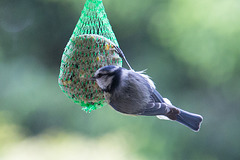
[[[122,65],[115,46],[102,0],[87,0],[63,52],[58,78],[62,91],[87,112],[105,104],[103,92],[90,77],[100,67]]]

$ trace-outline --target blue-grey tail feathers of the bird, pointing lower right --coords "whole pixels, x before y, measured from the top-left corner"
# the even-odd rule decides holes
[[[202,116],[179,109],[176,121],[198,132],[202,123]]]

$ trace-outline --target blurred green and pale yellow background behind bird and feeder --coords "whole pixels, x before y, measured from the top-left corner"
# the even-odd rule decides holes
[[[0,1],[0,159],[240,159],[240,1],[103,0],[132,67],[203,115],[198,133],[108,106],[85,113],[64,95],[61,56],[84,2]]]

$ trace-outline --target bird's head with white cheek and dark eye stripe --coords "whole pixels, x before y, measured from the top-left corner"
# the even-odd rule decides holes
[[[103,91],[109,92],[112,89],[114,79],[115,81],[119,80],[119,77],[118,79],[115,77],[121,72],[120,69],[121,67],[118,66],[104,66],[95,72],[91,80],[96,81]]]

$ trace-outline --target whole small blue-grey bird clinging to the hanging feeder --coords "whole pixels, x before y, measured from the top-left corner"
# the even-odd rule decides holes
[[[156,116],[177,121],[195,132],[200,130],[203,117],[180,109],[163,98],[144,71],[109,65],[99,68],[90,79],[104,92],[108,104],[120,113]]]

